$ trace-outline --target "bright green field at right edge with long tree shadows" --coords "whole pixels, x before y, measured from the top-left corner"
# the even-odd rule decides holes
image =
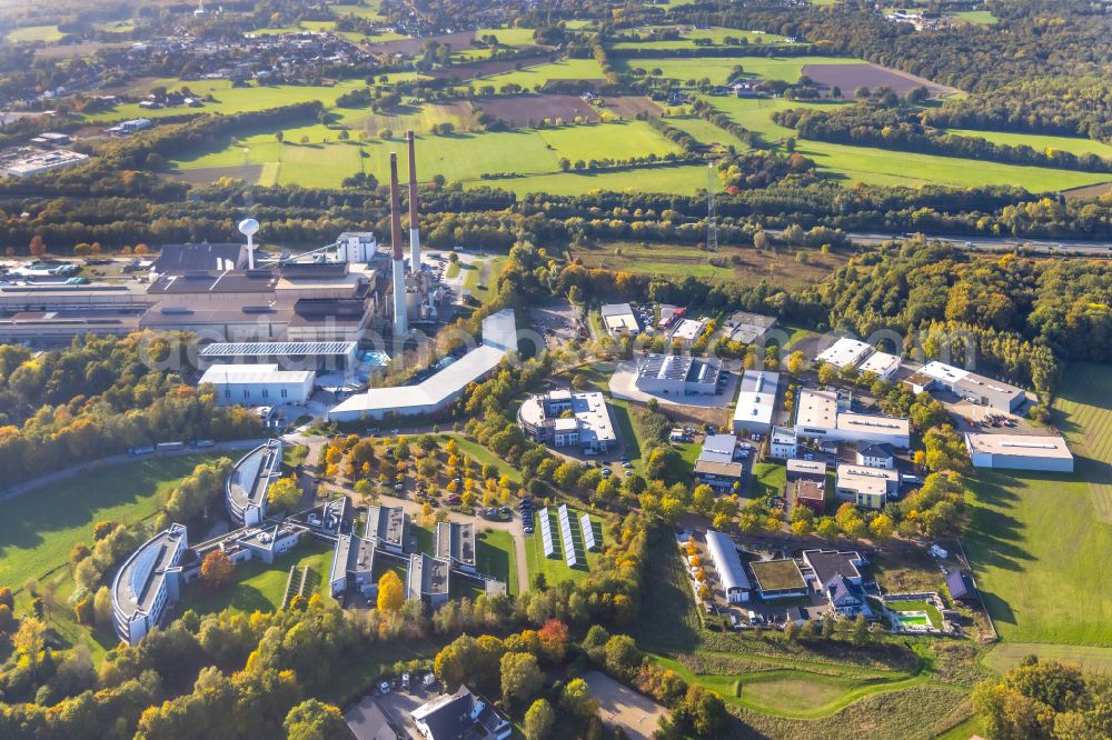
[[[1005,642],[1112,646],[1112,373],[1070,366],[1060,388],[1075,472],[977,471],[965,550]]]

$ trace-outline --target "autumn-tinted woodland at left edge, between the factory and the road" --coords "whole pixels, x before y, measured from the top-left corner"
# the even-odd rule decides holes
[[[178,339],[90,334],[38,356],[0,344],[3,483],[156,442],[260,436],[255,414],[183,382],[191,368]]]

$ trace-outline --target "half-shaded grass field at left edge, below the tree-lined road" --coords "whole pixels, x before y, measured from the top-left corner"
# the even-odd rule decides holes
[[[103,468],[3,503],[0,584],[19,588],[69,562],[77,542],[92,543],[98,521],[135,522],[155,514],[167,491],[201,462],[220,456],[147,459]]]

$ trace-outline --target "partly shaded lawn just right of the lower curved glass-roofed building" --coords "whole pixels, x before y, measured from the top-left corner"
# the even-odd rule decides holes
[[[321,583],[321,596],[329,597],[324,590],[328,583],[328,571],[332,562],[332,548],[327,543],[309,538],[290,552],[277,558],[268,566],[261,560],[248,560],[237,566],[236,582],[220,591],[208,591],[199,582],[186,586],[178,611],[192,609],[199,614],[215,613],[230,609],[241,614],[254,611],[275,611],[281,608],[286,594],[286,581],[289,569],[298,570],[308,566]]]

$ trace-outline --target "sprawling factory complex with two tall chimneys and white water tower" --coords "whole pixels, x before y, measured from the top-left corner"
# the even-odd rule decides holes
[[[150,283],[19,287],[0,296],[0,339],[58,341],[139,329],[191,331],[202,342],[358,342],[370,331],[405,342],[439,320],[446,290],[420,262],[414,140],[409,141],[409,264],[401,238],[397,158],[391,154],[391,239],[345,232],[299,253],[256,254],[247,244],[165,244]],[[145,279],[146,274],[138,276]],[[389,351],[390,348],[386,348]]]

